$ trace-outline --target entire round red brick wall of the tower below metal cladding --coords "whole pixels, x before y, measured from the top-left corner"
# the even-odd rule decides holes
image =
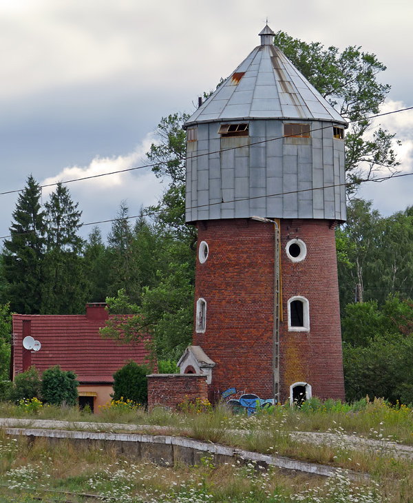
[[[341,333],[337,286],[335,232],[326,220],[282,220],[282,312],[280,373],[282,400],[290,384],[305,381],[320,398],[344,396]],[[290,228],[287,228],[290,227]],[[301,238],[307,256],[291,262],[288,240]],[[198,223],[198,245],[205,240],[209,256],[197,263],[195,304],[207,301],[207,327],[194,331],[215,362],[209,399],[229,387],[272,397],[272,342],[274,296],[274,228],[249,219],[209,220]],[[310,332],[288,332],[288,298],[301,295],[310,304]],[[195,326],[195,323],[194,323]]]

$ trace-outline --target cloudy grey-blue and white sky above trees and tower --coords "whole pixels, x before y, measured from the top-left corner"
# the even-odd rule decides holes
[[[0,192],[147,163],[162,116],[195,110],[260,44],[268,25],[304,41],[377,54],[391,85],[383,110],[413,106],[410,0],[0,0]],[[413,110],[383,117],[399,169],[413,172]],[[149,168],[67,185],[83,223],[156,203]],[[43,203],[52,189],[43,189]],[[413,176],[365,184],[383,215],[413,204]],[[0,236],[17,194],[0,194]],[[103,236],[110,224],[100,225]],[[82,229],[83,236],[92,225]]]

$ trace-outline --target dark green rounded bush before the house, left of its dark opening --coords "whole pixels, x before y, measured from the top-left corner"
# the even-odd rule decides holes
[[[78,398],[78,382],[72,371],[63,371],[59,365],[43,372],[41,395],[50,405],[70,405],[74,407]]]

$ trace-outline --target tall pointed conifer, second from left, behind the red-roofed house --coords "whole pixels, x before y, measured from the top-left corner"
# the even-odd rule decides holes
[[[47,252],[44,264],[43,314],[77,314],[85,309],[83,239],[77,232],[82,212],[61,183],[45,203]]]

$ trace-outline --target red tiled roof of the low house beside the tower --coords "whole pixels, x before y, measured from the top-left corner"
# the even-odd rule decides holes
[[[125,315],[127,316],[127,315]],[[119,345],[99,334],[105,320],[87,315],[13,315],[14,371],[23,369],[23,320],[31,321],[31,336],[41,342],[40,351],[32,351],[32,365],[39,371],[60,365],[72,370],[79,382],[113,382],[112,375],[129,360],[147,363],[144,342]]]

